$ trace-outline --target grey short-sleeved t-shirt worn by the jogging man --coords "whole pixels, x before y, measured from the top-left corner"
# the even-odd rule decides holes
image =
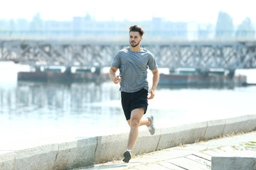
[[[156,69],[157,64],[154,55],[145,48],[132,52],[129,47],[125,47],[114,56],[112,67],[119,69],[120,91],[132,93],[141,89],[149,90],[146,70]]]

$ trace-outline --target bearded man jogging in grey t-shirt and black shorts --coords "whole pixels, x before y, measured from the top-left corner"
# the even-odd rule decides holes
[[[129,47],[119,50],[114,56],[110,68],[110,79],[114,84],[120,84],[122,108],[127,123],[130,126],[127,150],[124,152],[124,162],[132,158],[132,148],[139,135],[139,126],[146,125],[151,135],[154,135],[154,117],[142,118],[146,113],[148,99],[154,98],[155,89],[159,82],[159,71],[154,55],[140,47],[144,30],[139,26],[129,28]],[[149,89],[147,69],[153,74],[153,84]],[[119,75],[116,75],[119,69]],[[148,98],[148,94],[150,94]]]

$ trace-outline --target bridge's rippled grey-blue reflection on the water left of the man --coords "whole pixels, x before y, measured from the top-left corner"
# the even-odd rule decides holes
[[[55,119],[65,114],[94,115],[102,111],[115,114],[119,109],[113,109],[110,101],[119,101],[117,91],[117,86],[109,82],[47,84],[18,81],[16,89],[0,89],[0,113],[9,113],[9,118],[48,114]]]

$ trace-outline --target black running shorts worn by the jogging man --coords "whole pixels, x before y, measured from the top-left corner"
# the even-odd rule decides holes
[[[127,120],[131,118],[131,113],[136,108],[144,108],[144,114],[146,113],[146,108],[149,105],[148,91],[146,89],[141,89],[133,93],[121,91],[121,98],[122,108]]]

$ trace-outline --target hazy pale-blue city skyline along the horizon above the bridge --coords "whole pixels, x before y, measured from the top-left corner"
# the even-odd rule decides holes
[[[239,26],[224,12],[216,25],[210,23],[172,22],[153,17],[151,21],[95,21],[92,16],[74,16],[72,21],[43,21],[40,13],[32,21],[0,21],[0,39],[127,41],[132,25],[145,30],[144,41],[245,40],[255,39],[255,26],[245,18]]]

